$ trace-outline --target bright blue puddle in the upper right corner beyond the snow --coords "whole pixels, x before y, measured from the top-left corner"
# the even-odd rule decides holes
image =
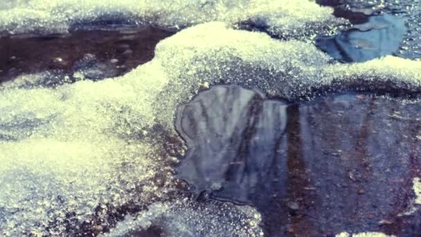
[[[350,35],[357,36],[361,40],[374,43],[375,48],[377,48],[378,51],[386,49],[384,46],[390,44],[393,51],[386,49],[386,51],[384,51],[385,54],[393,53],[393,55],[402,58],[421,58],[421,45],[419,44],[421,34],[420,30],[418,30],[421,26],[421,5],[418,1],[317,0],[316,2],[321,6],[331,6],[334,8],[333,14],[336,17],[348,19],[352,24],[366,24],[367,21],[375,22],[385,16],[386,18],[391,18],[391,21],[388,22],[388,30],[381,30],[383,33],[380,33],[378,30],[373,30],[372,33],[370,33],[375,38],[382,36],[380,41],[371,38],[369,36],[370,34],[367,33],[355,35],[354,33],[350,34],[349,32],[345,32],[341,33],[337,38],[349,37]],[[402,19],[404,19],[404,26],[402,26]],[[395,43],[397,40],[400,40],[400,42],[397,43],[398,49],[396,49]],[[330,49],[336,51],[335,48],[337,47],[338,46],[330,46]]]

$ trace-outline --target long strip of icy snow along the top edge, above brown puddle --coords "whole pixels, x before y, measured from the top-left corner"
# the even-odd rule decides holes
[[[0,8],[0,33],[62,33],[69,28],[109,21],[146,22],[169,28],[208,21],[248,21],[278,37],[328,33],[345,22],[333,17],[331,8],[307,0],[32,0],[3,3],[3,10]]]

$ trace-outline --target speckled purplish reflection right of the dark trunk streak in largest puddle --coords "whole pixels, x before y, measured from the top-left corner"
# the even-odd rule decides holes
[[[421,231],[415,223],[419,216],[398,225],[413,196],[411,179],[420,176],[421,162],[413,159],[421,151],[420,109],[419,104],[366,95],[301,105],[305,164],[323,200],[315,209],[321,233]],[[379,225],[382,220],[391,224]]]

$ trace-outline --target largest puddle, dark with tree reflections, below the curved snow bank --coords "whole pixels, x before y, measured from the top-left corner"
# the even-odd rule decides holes
[[[335,94],[287,104],[215,86],[179,107],[188,143],[178,176],[201,199],[250,204],[268,236],[379,231],[414,236],[400,216],[421,175],[421,104]]]

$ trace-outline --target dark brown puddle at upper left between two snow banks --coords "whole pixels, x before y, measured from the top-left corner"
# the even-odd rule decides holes
[[[56,35],[0,37],[0,82],[52,72],[54,83],[121,76],[154,57],[155,45],[173,32],[152,26],[76,30]]]

